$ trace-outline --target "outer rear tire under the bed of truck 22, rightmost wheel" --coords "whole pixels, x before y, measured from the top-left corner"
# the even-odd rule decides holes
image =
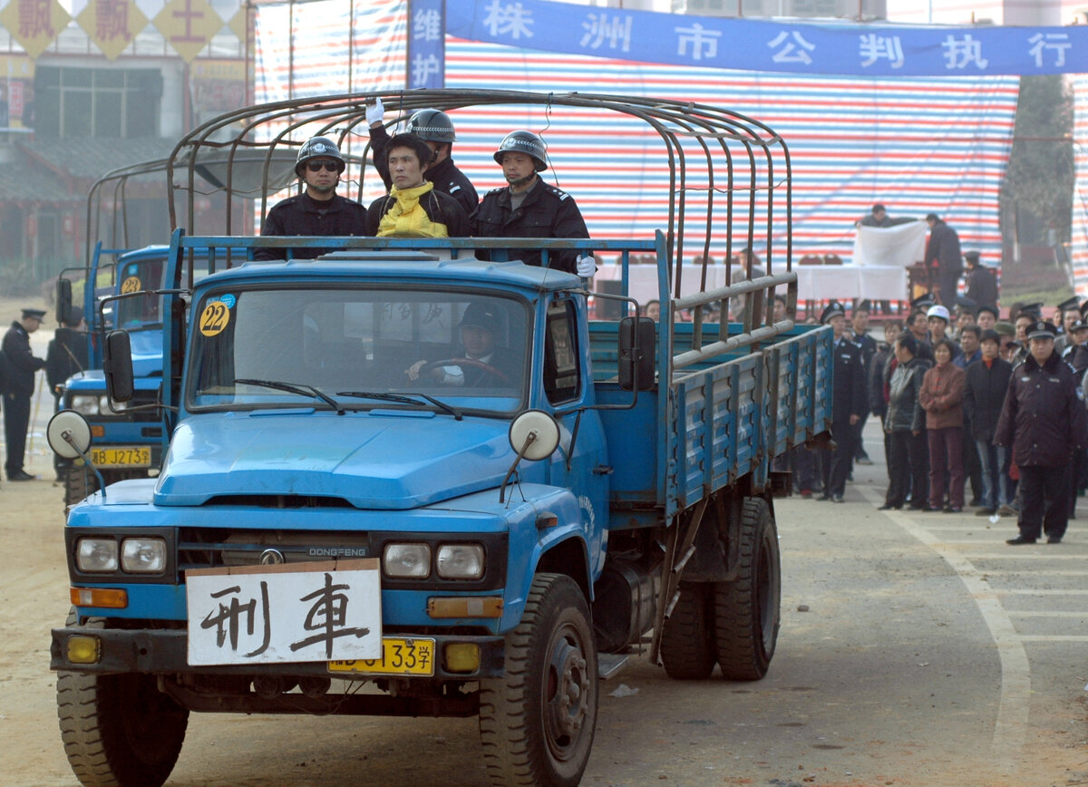
[[[767,502],[744,501],[737,578],[714,583],[714,636],[727,680],[758,680],[775,655],[781,623],[782,567]]]

